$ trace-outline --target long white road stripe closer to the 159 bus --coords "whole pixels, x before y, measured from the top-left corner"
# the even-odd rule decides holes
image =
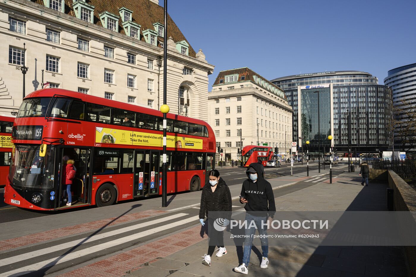
[[[52,246],[52,247],[47,247],[47,248],[44,248],[44,249],[35,250],[35,251],[32,251],[32,252],[27,252],[25,254],[20,254],[20,255],[8,257],[8,258],[0,260],[0,267],[2,267],[4,265],[9,265],[13,262],[19,262],[19,261],[22,261],[22,260],[27,260],[27,259],[30,259],[30,258],[33,258],[33,257],[40,256],[40,255],[45,255],[45,254],[48,254],[48,253],[51,253],[51,252],[54,252],[54,251],[63,250],[63,249],[66,249],[68,247],[74,247],[74,246],[77,246],[77,245],[82,245],[82,244],[87,243],[87,242],[92,242],[92,241],[95,241],[95,240],[101,240],[101,239],[104,239],[106,237],[111,237],[113,235],[121,234],[123,232],[129,232],[131,230],[136,230],[136,229],[143,228],[143,227],[146,227],[146,226],[149,226],[149,225],[162,223],[164,221],[172,220],[172,219],[179,218],[179,217],[182,217],[182,216],[185,216],[185,215],[188,215],[188,214],[187,213],[178,213],[177,215],[170,215],[170,216],[167,216],[167,217],[164,217],[164,218],[159,218],[159,219],[156,219],[156,220],[151,220],[151,221],[144,222],[144,223],[139,223],[139,224],[136,224],[136,225],[131,225],[131,226],[128,226],[128,227],[113,230],[113,231],[110,231],[110,232],[105,232],[105,233],[98,234],[98,235],[93,235],[91,237],[84,237],[84,238],[79,239],[79,240],[65,242],[65,243],[60,244],[60,245],[55,245],[55,246]]]

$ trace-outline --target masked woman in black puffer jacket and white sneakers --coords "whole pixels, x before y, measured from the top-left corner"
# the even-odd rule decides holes
[[[209,246],[208,253],[203,255],[203,265],[211,266],[211,257],[214,254],[215,245],[218,246],[217,257],[227,254],[224,247],[223,231],[218,231],[213,228],[215,220],[225,221],[225,224],[230,223],[231,218],[231,193],[228,185],[225,184],[223,178],[220,178],[218,170],[213,169],[209,173],[209,182],[206,183],[202,189],[201,208],[199,208],[199,221],[202,226],[205,225],[205,216],[209,223]],[[214,213],[212,213],[214,212]],[[221,218],[218,216],[219,212],[222,214]]]

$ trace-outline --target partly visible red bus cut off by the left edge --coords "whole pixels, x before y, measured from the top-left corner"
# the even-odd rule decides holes
[[[12,153],[12,127],[14,117],[0,116],[0,188],[6,185]]]

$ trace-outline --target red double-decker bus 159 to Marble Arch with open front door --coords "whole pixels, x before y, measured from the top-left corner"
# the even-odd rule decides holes
[[[29,94],[12,131],[5,203],[36,210],[161,194],[163,114],[64,89]],[[202,120],[167,114],[167,192],[196,191],[215,165],[215,136]],[[68,159],[76,175],[63,199]],[[64,175],[64,174],[62,174]]]

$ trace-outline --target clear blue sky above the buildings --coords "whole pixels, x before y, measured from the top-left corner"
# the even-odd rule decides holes
[[[163,0],[159,0],[163,6]],[[416,0],[168,0],[168,13],[221,70],[249,67],[271,80],[359,70],[379,78],[416,62]]]

